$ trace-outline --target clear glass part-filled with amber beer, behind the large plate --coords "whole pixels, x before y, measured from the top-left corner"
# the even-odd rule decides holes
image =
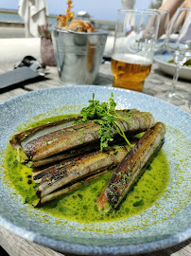
[[[157,10],[118,10],[112,56],[114,87],[143,91],[153,61],[159,22]]]

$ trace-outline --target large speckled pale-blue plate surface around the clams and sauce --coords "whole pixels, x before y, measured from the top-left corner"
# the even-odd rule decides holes
[[[8,186],[4,151],[18,125],[41,114],[46,117],[78,113],[92,99],[93,92],[99,101],[107,101],[113,92],[117,108],[149,111],[166,124],[163,150],[170,168],[169,181],[162,197],[138,215],[106,223],[83,224],[64,219],[59,222],[43,212],[37,214]],[[93,255],[148,252],[173,246],[191,236],[189,114],[142,93],[93,85],[29,92],[0,104],[0,113],[0,225],[5,229],[61,252]]]

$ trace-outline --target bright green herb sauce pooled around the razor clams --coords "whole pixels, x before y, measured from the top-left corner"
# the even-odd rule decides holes
[[[67,117],[43,119],[33,123],[32,126]],[[16,160],[16,151],[10,145],[6,149],[5,170],[10,186],[13,186],[16,192],[23,196],[24,203],[31,205],[31,202],[37,199],[35,192],[38,185],[32,180],[32,169]],[[96,198],[103,191],[111,174],[105,174],[77,191],[63,195],[36,210],[39,213],[43,211],[58,218],[83,223],[119,220],[148,209],[161,197],[165,192],[169,169],[165,154],[161,149],[119,207],[112,213],[103,214],[97,210]]]

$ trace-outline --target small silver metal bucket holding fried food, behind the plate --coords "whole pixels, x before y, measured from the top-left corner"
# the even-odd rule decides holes
[[[52,40],[61,83],[93,84],[108,36],[108,31],[94,33],[55,29]]]

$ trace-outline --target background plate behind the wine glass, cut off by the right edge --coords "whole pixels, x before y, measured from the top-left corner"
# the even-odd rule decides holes
[[[175,64],[169,64],[168,62],[172,60],[172,56],[169,54],[161,54],[161,55],[155,55],[154,61],[158,65],[158,67],[165,72],[165,74],[174,76],[175,73]],[[182,66],[180,71],[180,78],[191,80],[191,67],[188,66]]]

